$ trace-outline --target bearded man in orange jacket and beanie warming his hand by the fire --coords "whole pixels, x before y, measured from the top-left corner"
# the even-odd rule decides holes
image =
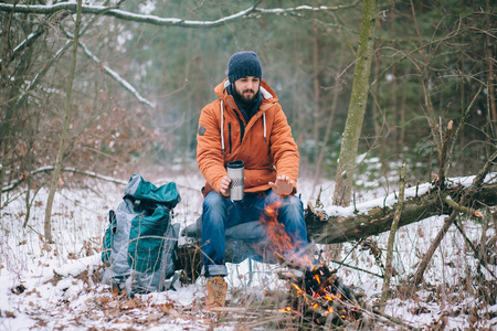
[[[262,79],[257,55],[233,54],[228,78],[214,92],[219,98],[202,109],[197,135],[197,162],[207,181],[201,231],[202,275],[208,279],[205,308],[225,305],[226,228],[260,220],[272,204],[277,206],[277,222],[295,253],[302,254],[308,245],[303,203],[295,195],[297,145],[276,94]],[[232,180],[226,164],[235,160],[245,167],[241,201],[230,199]]]

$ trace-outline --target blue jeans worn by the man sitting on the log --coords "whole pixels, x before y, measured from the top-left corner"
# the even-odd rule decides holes
[[[265,207],[275,202],[279,203],[276,209],[277,222],[284,226],[295,253],[304,254],[308,242],[300,199],[295,195],[282,197],[268,190],[245,193],[242,201],[231,201],[211,191],[203,201],[202,212],[202,274],[205,277],[228,275],[224,265],[226,228],[261,220]]]

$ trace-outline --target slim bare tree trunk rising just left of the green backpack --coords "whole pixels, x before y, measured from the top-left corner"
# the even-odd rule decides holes
[[[71,71],[67,77],[67,88],[65,93],[65,114],[64,114],[64,124],[62,127],[61,132],[61,142],[59,145],[59,152],[57,158],[55,160],[55,170],[53,171],[52,182],[50,184],[50,192],[49,197],[46,200],[46,209],[45,209],[45,220],[44,220],[44,235],[45,241],[47,243],[52,243],[52,227],[51,227],[51,216],[52,216],[52,206],[53,206],[53,200],[55,196],[55,191],[57,189],[59,184],[59,177],[61,174],[62,169],[62,162],[64,159],[64,151],[65,151],[65,141],[67,139],[68,135],[68,127],[71,124],[71,116],[72,116],[72,90],[73,90],[73,81],[74,75],[76,72],[76,60],[77,60],[77,42],[80,38],[80,25],[81,25],[81,7],[82,7],[82,0],[77,0],[77,11],[76,11],[76,24],[74,28],[74,41],[73,41],[73,52],[72,52],[72,60],[71,60]]]

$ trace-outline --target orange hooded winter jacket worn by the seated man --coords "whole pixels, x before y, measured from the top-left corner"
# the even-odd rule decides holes
[[[219,193],[221,179],[228,175],[226,164],[235,160],[245,163],[245,192],[265,191],[276,175],[285,174],[294,181],[292,194],[295,194],[298,149],[276,94],[261,81],[263,102],[245,122],[233,96],[228,94],[229,84],[226,78],[214,88],[219,99],[200,114],[197,163],[207,180],[203,194],[212,190]]]

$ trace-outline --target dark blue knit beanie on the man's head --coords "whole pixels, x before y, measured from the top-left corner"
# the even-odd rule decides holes
[[[228,78],[234,83],[240,78],[254,76],[262,78],[262,66],[254,52],[239,52],[228,62]]]

